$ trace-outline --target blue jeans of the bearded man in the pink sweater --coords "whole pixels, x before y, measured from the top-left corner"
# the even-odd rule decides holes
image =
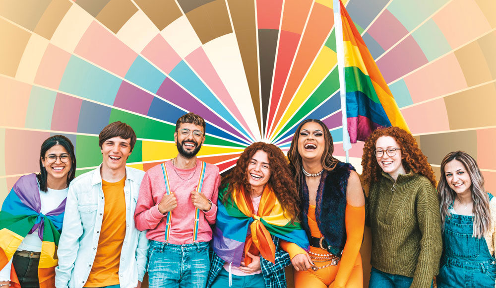
[[[149,287],[205,287],[210,269],[208,249],[208,242],[175,245],[151,240],[147,269]]]

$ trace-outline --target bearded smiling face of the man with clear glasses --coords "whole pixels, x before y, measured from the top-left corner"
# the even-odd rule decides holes
[[[195,135],[198,134],[198,131],[201,132],[201,136]],[[203,127],[192,123],[181,123],[178,131],[174,133],[174,142],[176,142],[179,154],[185,158],[194,157],[205,142]]]

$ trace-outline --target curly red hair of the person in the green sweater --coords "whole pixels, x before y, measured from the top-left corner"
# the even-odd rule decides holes
[[[405,130],[394,126],[375,130],[365,142],[364,153],[362,155],[362,180],[365,184],[370,185],[372,182],[379,181],[378,177],[381,175],[382,169],[377,163],[374,151],[375,143],[381,136],[391,136],[398,143],[401,148],[401,155],[403,156],[402,163],[405,170],[425,176],[431,181],[434,187],[437,185],[433,168],[427,161],[427,157],[422,154],[415,138]]]

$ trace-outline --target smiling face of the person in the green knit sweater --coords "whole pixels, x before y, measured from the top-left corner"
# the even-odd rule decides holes
[[[403,167],[403,156],[401,150],[396,150],[396,154],[389,156],[386,150],[388,148],[400,148],[396,140],[391,136],[381,136],[375,142],[375,151],[382,150],[384,153],[381,157],[375,157],[382,171],[386,172],[396,180],[398,174],[405,174]]]

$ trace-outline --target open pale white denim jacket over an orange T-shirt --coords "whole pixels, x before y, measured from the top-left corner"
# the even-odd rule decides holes
[[[57,251],[57,288],[82,288],[93,266],[105,205],[100,166],[80,175],[69,185]],[[139,231],[134,227],[133,217],[144,172],[130,167],[125,169],[126,230],[121,250],[119,282],[121,288],[134,288],[138,280],[143,280],[148,261],[146,231]]]

